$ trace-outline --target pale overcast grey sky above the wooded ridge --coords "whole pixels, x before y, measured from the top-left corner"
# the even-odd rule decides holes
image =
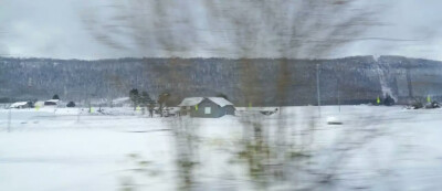
[[[139,3],[139,10],[135,10],[138,6],[134,2]],[[238,2],[222,1],[222,8],[231,4],[229,9],[232,12],[239,13],[239,18],[245,15],[253,23],[253,29],[260,31],[256,33],[259,38],[245,44],[249,50],[245,52],[235,42],[239,34],[229,31],[235,30],[232,28],[241,29],[242,23],[249,21],[232,25],[233,21],[224,18],[225,10],[213,12],[213,9],[208,9],[210,3],[204,0],[164,0],[166,3],[159,7],[154,1],[134,2],[0,0],[0,55],[87,60],[128,56],[316,56],[312,54],[312,49],[304,47],[296,54],[282,54],[274,42],[281,45],[285,43],[283,41],[288,41],[280,36],[284,32],[278,29],[285,28],[275,26],[276,31],[269,32],[273,25],[266,23],[291,25],[293,20],[283,13],[298,11],[295,8],[298,4],[294,1],[273,1],[273,10],[282,9],[281,17],[278,13],[276,17],[256,13],[261,9],[254,8],[253,2],[241,2],[242,8],[236,9],[234,7],[239,6]],[[221,3],[220,0],[212,2]],[[356,40],[339,44],[320,54],[322,57],[394,54],[442,60],[442,14],[439,12],[442,1],[367,0],[354,10],[357,12],[361,8],[376,10],[370,17],[380,24],[365,28],[357,36],[347,36]],[[158,9],[164,13],[161,17],[158,15]],[[161,23],[167,26],[161,26]],[[125,24],[131,28],[125,29]],[[134,25],[137,24],[143,28],[134,32]]]

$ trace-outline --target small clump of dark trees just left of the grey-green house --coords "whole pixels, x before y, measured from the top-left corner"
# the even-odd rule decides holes
[[[155,100],[150,97],[150,95],[146,91],[139,93],[137,88],[133,88],[129,92],[129,98],[130,102],[133,103],[134,110],[138,106],[148,107],[150,116],[154,115],[155,107],[158,104],[158,113],[162,117],[162,112],[164,108],[166,107],[166,102],[168,100],[169,97],[170,97],[169,93],[162,93],[158,96],[157,100]]]

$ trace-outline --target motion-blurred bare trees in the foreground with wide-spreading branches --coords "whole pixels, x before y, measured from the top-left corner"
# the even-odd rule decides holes
[[[323,57],[348,42],[357,41],[367,28],[379,24],[375,18],[379,10],[359,0],[131,0],[126,3],[115,1],[112,7],[104,9],[112,12],[104,20],[94,15],[93,11],[83,14],[91,34],[110,47],[135,50],[145,56]],[[176,60],[170,59],[170,62]],[[277,99],[284,100],[293,98],[287,96],[287,91],[297,82],[288,73],[288,63],[285,60],[281,62],[274,89]],[[161,82],[192,86],[186,74],[180,73],[180,64],[183,63],[176,63],[177,66],[168,71],[173,75],[168,75]],[[243,60],[238,70],[241,72],[241,94],[250,100],[250,106],[254,106],[254,103],[265,98],[261,92],[265,89],[250,85],[259,77],[257,68]],[[280,114],[284,114],[283,107]],[[299,172],[295,174],[312,174],[311,184],[306,187],[309,189],[337,180],[334,169],[341,163],[341,152],[330,153],[333,166],[323,167],[315,176],[308,171],[308,158],[314,155],[308,146],[315,139],[319,120],[317,115],[312,115],[307,129],[294,126],[286,120],[287,116],[280,116],[274,127],[274,139],[269,139],[270,126],[261,116],[240,116],[244,130],[243,139],[238,142],[238,157],[246,161],[253,181],[264,190],[267,183],[277,180],[294,182],[296,187],[303,180],[291,174],[296,169]],[[198,157],[193,156],[197,153],[194,149],[198,149],[194,146],[198,140],[193,139],[198,134],[193,129],[198,124],[172,121],[169,125],[176,129],[182,188],[191,190],[190,179],[194,177],[192,169],[198,163],[194,161]],[[360,128],[365,126],[361,124]],[[287,136],[299,130],[303,131],[302,136]],[[296,144],[295,138],[304,144]],[[263,163],[264,159],[274,161],[274,166]]]

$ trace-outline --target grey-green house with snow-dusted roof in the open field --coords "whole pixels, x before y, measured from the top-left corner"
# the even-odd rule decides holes
[[[235,112],[233,104],[223,97],[187,97],[178,106],[180,115],[201,118],[218,118]]]

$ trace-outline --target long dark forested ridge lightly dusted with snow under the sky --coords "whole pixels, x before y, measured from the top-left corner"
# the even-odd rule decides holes
[[[317,75],[318,74],[318,75]],[[402,56],[335,60],[0,57],[0,102],[128,97],[146,91],[183,97],[225,95],[238,106],[366,104],[391,94],[399,103],[442,95],[442,62]]]

